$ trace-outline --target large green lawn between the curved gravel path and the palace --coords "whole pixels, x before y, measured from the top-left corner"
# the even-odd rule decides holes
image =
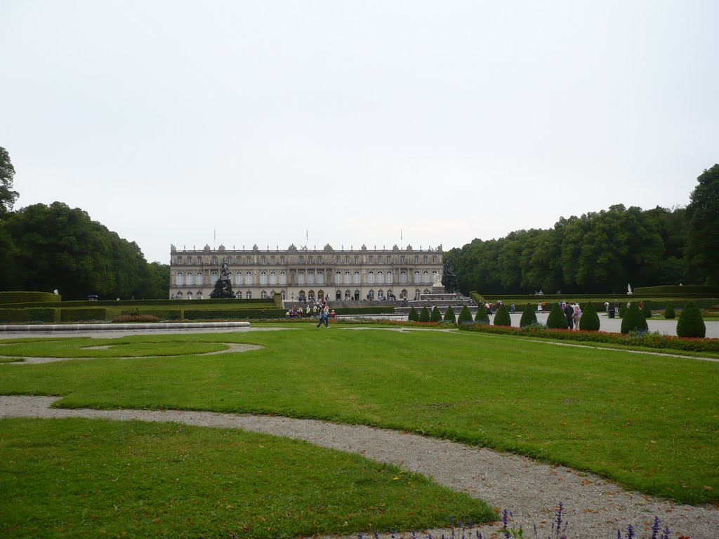
[[[413,430],[682,502],[719,501],[715,362],[464,332],[295,327],[126,337],[117,340],[123,349],[163,341],[178,351],[182,341],[265,349],[8,366],[0,393],[65,395],[63,407],[272,413]]]

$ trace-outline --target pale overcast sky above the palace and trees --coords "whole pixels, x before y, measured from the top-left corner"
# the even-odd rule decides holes
[[[16,208],[82,208],[150,261],[447,250],[686,205],[719,162],[718,21],[716,0],[0,0],[0,146]]]

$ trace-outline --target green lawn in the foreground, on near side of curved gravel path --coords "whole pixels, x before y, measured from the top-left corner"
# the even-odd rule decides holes
[[[424,476],[239,430],[0,420],[0,535],[296,537],[495,520]]]

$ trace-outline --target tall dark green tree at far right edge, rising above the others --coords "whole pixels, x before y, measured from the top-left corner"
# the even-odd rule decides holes
[[[687,206],[687,265],[707,285],[719,284],[719,165],[705,170]]]

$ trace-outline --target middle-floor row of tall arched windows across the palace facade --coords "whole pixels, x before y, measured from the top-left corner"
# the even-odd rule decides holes
[[[413,274],[413,281],[414,283],[424,282],[434,282],[434,276],[436,275],[436,270],[433,272],[429,272],[429,270],[424,270],[423,272],[420,272],[419,270],[415,270]],[[214,283],[217,281],[219,277],[219,274],[216,270],[213,270],[210,274],[210,282]],[[287,285],[287,272],[280,271],[280,280],[278,282],[278,273],[275,271],[270,271],[269,273],[266,271],[260,272],[260,285]],[[358,270],[355,270],[354,272],[350,272],[349,270],[344,272],[344,279],[343,274],[339,270],[334,272],[334,284],[335,285],[349,285],[351,283],[354,283],[355,285],[361,284],[361,275]],[[238,271],[236,273],[229,272],[229,280],[230,283],[233,285],[252,285],[252,280],[254,279],[254,274],[252,272],[242,272]],[[370,270],[367,272],[367,284],[368,285],[383,285],[385,282],[388,285],[391,285],[393,283],[394,275],[392,270],[388,270],[387,272],[383,272],[382,270]],[[400,284],[405,284],[408,282],[408,275],[406,270],[400,270]],[[203,284],[203,275],[202,272],[187,272],[184,274],[183,272],[177,272],[175,274],[175,285],[178,286],[193,286],[193,285],[202,285]],[[324,272],[322,270],[318,270],[317,272],[314,272],[313,270],[308,270],[306,273],[303,270],[300,270],[297,272],[297,284],[298,285],[324,285]]]

